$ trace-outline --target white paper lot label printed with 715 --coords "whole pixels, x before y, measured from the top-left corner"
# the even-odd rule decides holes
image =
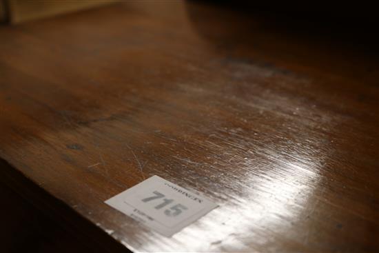
[[[217,206],[159,176],[152,176],[105,203],[164,236],[172,236]]]

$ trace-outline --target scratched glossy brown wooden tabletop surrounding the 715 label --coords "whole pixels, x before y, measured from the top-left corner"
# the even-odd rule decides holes
[[[302,31],[182,1],[1,27],[0,156],[132,251],[379,252],[377,55]],[[220,206],[165,238],[103,203],[155,174]]]

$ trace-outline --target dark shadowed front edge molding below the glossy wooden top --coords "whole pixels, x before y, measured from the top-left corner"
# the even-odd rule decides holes
[[[48,216],[70,234],[74,234],[94,252],[130,252],[100,227],[85,219],[63,201],[33,183],[19,170],[0,158],[0,183],[19,194],[25,201]],[[5,203],[6,204],[6,203]]]

